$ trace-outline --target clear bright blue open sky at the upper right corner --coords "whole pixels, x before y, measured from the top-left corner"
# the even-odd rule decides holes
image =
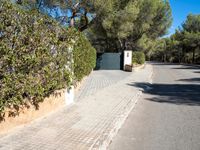
[[[200,14],[200,0],[170,0],[173,14],[173,24],[169,29],[171,35],[186,20],[187,15]]]

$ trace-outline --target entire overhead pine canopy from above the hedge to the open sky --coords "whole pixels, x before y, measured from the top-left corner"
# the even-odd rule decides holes
[[[23,2],[28,2],[30,6],[36,6],[40,12],[47,14],[56,11],[55,6],[61,8],[65,17],[54,16],[58,21],[61,23],[70,21],[71,26],[79,28],[80,31],[89,28],[90,41],[105,39],[107,47],[113,47],[111,45],[114,41],[114,47],[118,51],[125,48],[144,49],[138,47],[138,40],[146,36],[149,41],[153,41],[165,35],[172,23],[169,0],[23,0]],[[74,9],[74,6],[78,7]],[[75,20],[72,19],[73,16],[67,17],[66,10],[76,13]],[[85,12],[90,15],[85,15]],[[148,42],[145,47],[152,47],[151,44]],[[103,49],[104,46],[100,47]]]

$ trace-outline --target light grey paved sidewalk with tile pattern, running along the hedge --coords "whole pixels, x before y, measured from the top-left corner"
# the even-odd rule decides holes
[[[130,84],[148,82],[151,74],[152,67],[146,65],[112,82],[100,77],[95,84],[89,77],[74,105],[0,138],[0,150],[105,149],[141,95]]]

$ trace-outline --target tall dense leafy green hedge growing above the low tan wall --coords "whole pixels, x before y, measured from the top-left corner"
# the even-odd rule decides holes
[[[69,47],[75,48],[74,53]],[[81,33],[66,30],[37,11],[1,0],[0,118],[6,110],[15,116],[21,107],[38,108],[45,97],[69,87],[71,78],[81,80],[87,75],[94,59],[95,50]]]

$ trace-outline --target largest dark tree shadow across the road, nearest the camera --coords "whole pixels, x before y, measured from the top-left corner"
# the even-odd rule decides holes
[[[200,106],[200,84],[132,83],[128,85],[139,87],[144,93],[152,95],[146,100],[176,105]]]

